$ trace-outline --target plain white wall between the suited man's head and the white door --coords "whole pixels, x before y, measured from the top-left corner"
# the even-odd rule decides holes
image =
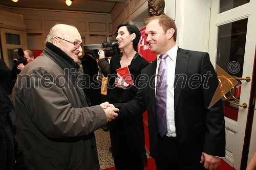
[[[179,47],[208,51],[209,14],[210,0],[176,0],[175,22]]]

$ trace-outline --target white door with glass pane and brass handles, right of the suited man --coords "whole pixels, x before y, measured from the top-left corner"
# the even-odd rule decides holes
[[[210,13],[209,54],[229,75],[252,78],[256,42],[256,0],[212,0]],[[226,125],[226,157],[223,159],[240,169],[248,115],[252,80],[242,81],[234,95],[237,104],[224,103]],[[241,85],[241,86],[240,86]],[[241,91],[240,91],[241,89]],[[254,142],[255,143],[255,142]]]

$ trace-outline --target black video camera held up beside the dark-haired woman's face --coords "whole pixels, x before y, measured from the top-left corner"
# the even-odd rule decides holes
[[[111,42],[102,42],[102,47],[103,48],[108,48],[110,47],[110,50],[103,50],[105,57],[113,57],[116,54],[120,53],[120,50],[118,48],[118,42],[117,41],[111,41]],[[96,58],[99,58],[98,55],[98,49],[92,50],[93,53],[95,54]]]

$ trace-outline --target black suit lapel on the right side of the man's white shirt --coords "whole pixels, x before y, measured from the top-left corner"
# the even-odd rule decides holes
[[[189,62],[189,54],[187,54],[188,51],[183,50],[182,48],[178,48],[177,51],[177,58],[176,58],[176,68],[175,68],[175,80],[174,80],[174,110],[176,109],[176,106],[178,104],[180,94],[182,91],[182,86],[184,86],[184,82],[186,81],[186,72],[187,72],[187,66]],[[183,77],[183,76],[184,77]],[[180,79],[178,79],[181,77]],[[184,78],[184,80],[182,80]],[[177,81],[179,80],[179,81]],[[184,87],[183,87],[184,88]]]

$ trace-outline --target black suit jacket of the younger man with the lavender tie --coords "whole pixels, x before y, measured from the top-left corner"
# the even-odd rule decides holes
[[[157,159],[158,132],[155,106],[155,74],[157,61],[142,70],[145,80],[134,100],[114,104],[120,109],[118,118],[148,114],[151,156]],[[222,101],[208,108],[218,80],[208,53],[178,48],[175,70],[175,126],[177,143],[184,163],[200,161],[202,152],[225,156],[225,122]],[[207,76],[208,75],[208,76]],[[193,83],[194,80],[194,83]]]

